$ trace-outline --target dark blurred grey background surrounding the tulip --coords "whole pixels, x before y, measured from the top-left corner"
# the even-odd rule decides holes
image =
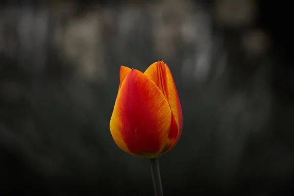
[[[2,1],[0,195],[154,196],[109,121],[120,66],[159,60],[184,124],[159,160],[165,195],[294,195],[287,2]]]

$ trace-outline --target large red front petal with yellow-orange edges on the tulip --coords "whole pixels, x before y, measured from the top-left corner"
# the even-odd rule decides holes
[[[124,151],[148,158],[166,145],[172,112],[167,99],[144,73],[131,70],[119,90],[110,131]]]

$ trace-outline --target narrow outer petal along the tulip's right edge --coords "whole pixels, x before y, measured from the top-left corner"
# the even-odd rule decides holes
[[[183,116],[182,116],[182,107],[180,103],[180,99],[172,78],[172,73],[170,68],[165,64],[166,72],[167,72],[167,80],[168,80],[168,90],[169,90],[169,104],[172,110],[172,116],[174,117],[174,121],[172,119],[171,130],[169,133],[167,147],[164,152],[167,152],[169,149],[174,147],[180,136],[182,134],[183,129]]]

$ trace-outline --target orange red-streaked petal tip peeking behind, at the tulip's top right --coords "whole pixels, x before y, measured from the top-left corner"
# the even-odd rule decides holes
[[[168,78],[165,64],[158,61],[150,65],[145,71],[146,75],[158,86],[164,97],[169,100]]]

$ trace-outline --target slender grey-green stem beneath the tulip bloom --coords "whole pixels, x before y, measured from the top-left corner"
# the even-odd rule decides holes
[[[163,196],[161,179],[160,179],[159,164],[158,164],[158,157],[156,157],[154,159],[150,159],[150,166],[151,166],[151,173],[152,173],[155,196]]]

